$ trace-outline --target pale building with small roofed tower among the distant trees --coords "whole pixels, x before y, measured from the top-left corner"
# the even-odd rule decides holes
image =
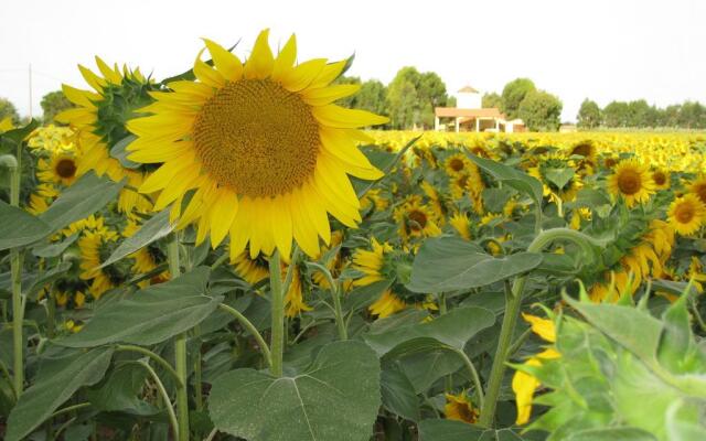
[[[500,109],[483,108],[481,93],[466,86],[457,93],[456,107],[436,107],[434,109],[434,129],[436,131],[524,131],[522,119],[507,120]]]

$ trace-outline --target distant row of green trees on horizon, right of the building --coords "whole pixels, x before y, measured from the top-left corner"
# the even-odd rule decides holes
[[[578,111],[578,126],[584,129],[606,128],[682,128],[706,129],[706,106],[685,101],[660,108],[644,99],[611,101],[600,108],[596,101],[585,99]]]

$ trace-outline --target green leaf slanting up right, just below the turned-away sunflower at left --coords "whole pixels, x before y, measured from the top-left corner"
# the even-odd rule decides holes
[[[98,178],[94,172],[81,176],[72,186],[66,189],[54,203],[40,215],[53,230],[81,220],[96,213],[110,201],[114,201],[124,182],[113,182]]]

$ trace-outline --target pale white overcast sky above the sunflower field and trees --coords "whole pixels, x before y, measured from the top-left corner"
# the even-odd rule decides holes
[[[77,64],[139,66],[160,79],[191,67],[210,37],[247,56],[261,29],[278,47],[297,34],[299,61],[355,53],[349,75],[388,83],[403,66],[434,71],[450,93],[501,92],[516,77],[564,103],[644,98],[706,101],[706,1],[3,1],[0,97],[22,116],[67,83]],[[30,100],[29,66],[32,65]]]

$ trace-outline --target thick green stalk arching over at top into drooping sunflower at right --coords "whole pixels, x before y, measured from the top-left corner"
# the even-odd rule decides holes
[[[539,252],[546,245],[556,239],[574,241],[581,247],[585,252],[592,252],[591,243],[600,245],[591,237],[574,229],[552,228],[539,233],[532,244],[530,244],[530,247],[527,247],[527,251]],[[505,293],[505,315],[503,316],[503,324],[500,330],[500,340],[498,342],[498,348],[495,349],[493,366],[490,372],[490,380],[485,392],[485,405],[481,409],[481,416],[479,419],[479,424],[482,427],[490,427],[495,417],[495,407],[498,406],[500,387],[502,386],[503,377],[505,375],[505,364],[507,363],[507,357],[510,355],[512,336],[515,332],[515,325],[517,324],[520,306],[522,305],[522,294],[526,282],[526,275],[516,278],[513,281],[512,289]]]

